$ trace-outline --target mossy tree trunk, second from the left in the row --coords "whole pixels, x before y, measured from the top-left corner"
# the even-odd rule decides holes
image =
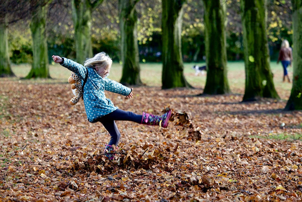
[[[25,77],[27,79],[50,78],[45,31],[46,14],[47,5],[38,6],[37,9],[32,12],[30,28],[33,38],[33,64],[31,71]]]

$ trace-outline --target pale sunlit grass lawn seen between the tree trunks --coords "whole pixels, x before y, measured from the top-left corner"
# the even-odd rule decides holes
[[[206,75],[195,76],[195,71],[192,66],[196,63],[184,64],[184,75],[187,81],[195,88],[204,88]],[[205,63],[198,63],[203,65]],[[233,93],[244,94],[245,87],[245,69],[243,61],[230,61],[228,66],[228,79],[231,91]],[[162,63],[141,63],[141,80],[147,86],[161,86]],[[12,70],[17,77],[25,77],[31,69],[31,65],[12,65]],[[288,99],[291,91],[291,83],[283,83],[283,69],[281,63],[278,65],[275,61],[271,62],[271,70],[274,74],[275,88],[282,99]],[[59,64],[50,65],[50,76],[55,79],[55,82],[67,82],[70,71],[61,67]],[[115,81],[120,81],[122,75],[122,67],[119,63],[113,63],[109,78]],[[289,75],[292,77],[292,68],[289,68]],[[53,80],[43,80],[42,82],[53,82]]]

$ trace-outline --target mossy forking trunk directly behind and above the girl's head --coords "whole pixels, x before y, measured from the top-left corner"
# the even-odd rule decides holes
[[[83,63],[92,57],[92,11],[104,0],[72,0],[72,20],[75,29],[76,61]]]

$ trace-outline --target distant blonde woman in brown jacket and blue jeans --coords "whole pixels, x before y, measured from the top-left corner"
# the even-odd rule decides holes
[[[286,68],[288,67],[288,65],[291,66],[291,63],[293,61],[293,53],[291,48],[289,47],[288,40],[286,39],[283,40],[281,43],[277,64],[279,63],[279,61],[281,61],[284,70],[283,82],[285,81],[285,77],[286,77],[288,79],[288,82],[290,83],[291,80],[289,79]]]

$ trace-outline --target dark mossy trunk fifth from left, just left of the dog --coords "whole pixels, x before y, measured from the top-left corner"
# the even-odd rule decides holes
[[[184,2],[162,1],[162,89],[191,87],[183,74],[181,31]]]

